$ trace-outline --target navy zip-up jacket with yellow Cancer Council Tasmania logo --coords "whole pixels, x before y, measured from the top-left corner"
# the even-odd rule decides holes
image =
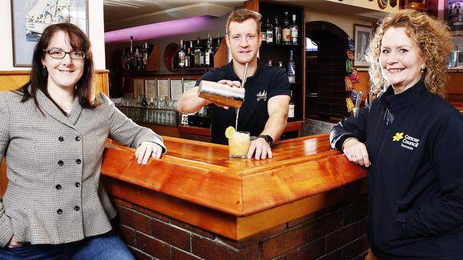
[[[392,87],[331,131],[370,157],[368,239],[381,259],[463,259],[463,116],[423,81]]]

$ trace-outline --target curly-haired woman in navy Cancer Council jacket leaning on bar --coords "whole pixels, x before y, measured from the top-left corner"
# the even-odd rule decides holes
[[[367,53],[380,96],[331,131],[368,167],[367,259],[463,259],[463,116],[442,98],[452,48],[426,13],[385,18]]]

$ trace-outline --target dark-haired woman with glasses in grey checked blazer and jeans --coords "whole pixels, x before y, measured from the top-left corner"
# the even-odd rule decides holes
[[[133,259],[113,232],[116,213],[100,185],[106,138],[137,148],[142,164],[166,152],[160,136],[93,94],[85,33],[71,23],[48,26],[30,82],[0,92],[0,158],[9,178],[0,259]]]

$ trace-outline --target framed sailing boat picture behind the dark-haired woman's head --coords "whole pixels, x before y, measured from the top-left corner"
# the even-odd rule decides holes
[[[65,22],[76,24],[88,35],[88,0],[11,0],[14,67],[31,67],[43,30]]]

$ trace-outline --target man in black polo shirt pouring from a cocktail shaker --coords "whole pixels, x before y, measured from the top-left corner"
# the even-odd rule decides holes
[[[261,15],[249,9],[232,11],[227,21],[227,45],[231,50],[232,60],[220,68],[209,70],[198,80],[209,80],[241,87],[238,75],[244,74],[244,67],[249,63],[246,80],[244,103],[239,110],[239,131],[249,131],[251,136],[258,136],[251,141],[248,158],[265,159],[272,157],[271,146],[279,139],[286,127],[288,104],[290,101],[288,76],[283,70],[269,67],[257,58],[261,46]],[[198,87],[184,92],[177,103],[180,112],[196,112],[211,101],[197,96]],[[212,104],[212,142],[227,144],[225,129],[235,125],[236,110],[223,104]]]

